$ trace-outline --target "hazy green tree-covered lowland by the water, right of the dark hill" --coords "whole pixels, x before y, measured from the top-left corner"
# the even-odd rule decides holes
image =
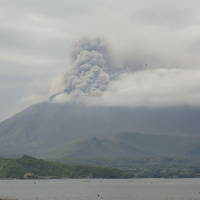
[[[82,163],[123,169],[132,178],[200,178],[200,160],[186,157],[118,157],[88,160],[66,159]]]

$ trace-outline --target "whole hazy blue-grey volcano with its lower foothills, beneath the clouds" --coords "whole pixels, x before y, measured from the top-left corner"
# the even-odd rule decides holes
[[[91,158],[194,152],[198,156],[199,139],[190,135],[199,134],[199,118],[200,110],[191,107],[136,109],[41,103],[0,123],[0,154]],[[135,132],[149,136],[119,134]],[[178,135],[190,137],[180,139]]]

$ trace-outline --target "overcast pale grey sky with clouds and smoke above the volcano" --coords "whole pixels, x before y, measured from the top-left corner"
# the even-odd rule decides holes
[[[54,94],[199,106],[199,7],[198,0],[0,0],[0,120]],[[80,38],[93,47],[101,38],[107,49],[78,52],[87,61],[81,76],[81,63],[70,59]]]

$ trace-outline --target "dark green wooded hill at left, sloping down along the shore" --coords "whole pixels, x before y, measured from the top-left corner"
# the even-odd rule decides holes
[[[26,173],[35,177],[54,178],[130,178],[131,174],[114,168],[86,165],[67,165],[44,161],[30,156],[19,159],[0,159],[0,178],[23,178]]]

